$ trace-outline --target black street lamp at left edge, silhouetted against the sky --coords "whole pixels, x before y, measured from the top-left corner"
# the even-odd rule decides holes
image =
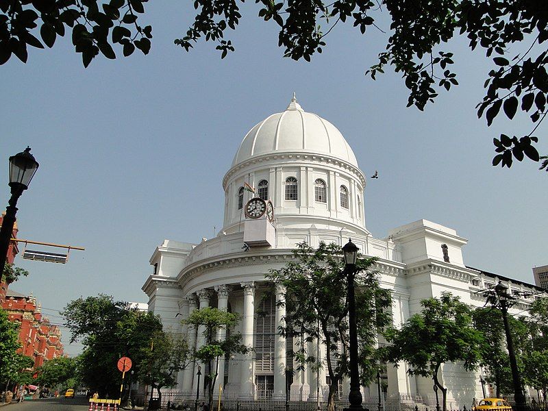
[[[17,153],[10,157],[10,188],[12,197],[5,209],[5,216],[0,228],[0,270],[3,272],[10,240],[12,239],[13,225],[15,223],[15,214],[17,212],[17,200],[27,188],[38,170],[38,162],[30,153],[30,147],[27,147],[22,153]]]

